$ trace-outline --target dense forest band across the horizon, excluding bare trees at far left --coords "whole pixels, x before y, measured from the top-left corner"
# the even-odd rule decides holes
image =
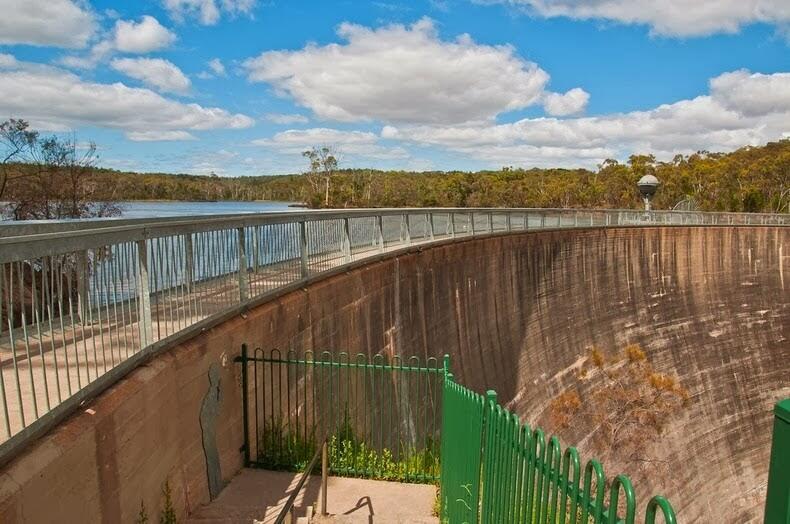
[[[656,209],[691,200],[701,210],[788,212],[790,139],[732,153],[699,152],[671,161],[634,155],[597,170],[520,169],[423,172],[306,166],[306,174],[218,177],[126,173],[94,168],[92,197],[117,200],[280,200],[325,207],[564,207],[640,206],[636,181],[654,174]],[[14,187],[6,200],[14,199]]]

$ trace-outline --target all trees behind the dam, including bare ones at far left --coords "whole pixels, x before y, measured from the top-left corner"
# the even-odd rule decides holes
[[[661,181],[655,209],[790,212],[790,139],[731,153],[658,161],[633,155],[590,169],[504,167],[477,172],[339,167],[327,147],[306,151],[305,173],[220,177],[130,173],[98,166],[96,147],[42,137],[22,120],[0,124],[0,202],[9,218],[112,216],[124,200],[276,200],[308,207],[637,208],[636,181]]]

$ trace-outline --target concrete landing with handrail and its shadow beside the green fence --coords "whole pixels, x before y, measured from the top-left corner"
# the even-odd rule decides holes
[[[211,504],[199,508],[187,519],[189,524],[271,524],[277,518],[299,474],[260,469],[244,469]],[[320,477],[311,477],[296,499],[297,516],[315,504],[321,494]],[[432,516],[436,487],[341,477],[329,477],[327,487],[329,517],[313,522],[334,523],[415,523],[438,524]]]

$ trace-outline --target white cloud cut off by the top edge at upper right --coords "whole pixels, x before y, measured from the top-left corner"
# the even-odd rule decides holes
[[[736,33],[763,22],[780,30],[790,23],[787,0],[477,0],[527,8],[545,17],[604,19],[650,26],[655,34],[701,36]]]

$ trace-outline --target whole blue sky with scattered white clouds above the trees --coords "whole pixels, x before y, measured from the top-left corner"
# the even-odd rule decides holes
[[[137,171],[595,167],[790,137],[788,0],[0,0],[0,118]]]

